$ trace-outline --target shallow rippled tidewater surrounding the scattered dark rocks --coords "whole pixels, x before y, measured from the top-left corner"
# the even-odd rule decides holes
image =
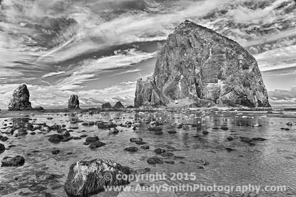
[[[15,114],[15,113],[14,113]],[[63,186],[66,182],[69,167],[71,164],[81,160],[91,160],[96,158],[111,159],[122,165],[127,165],[133,170],[141,170],[145,167],[151,168],[148,174],[166,173],[166,180],[140,180],[132,181],[132,188],[136,188],[137,184],[141,186],[156,185],[183,185],[183,184],[203,184],[203,185],[258,185],[264,186],[287,186],[286,192],[262,192],[259,197],[282,197],[296,196],[296,126],[287,126],[286,123],[296,121],[295,113],[284,112],[266,114],[262,112],[222,112],[219,114],[203,116],[197,114],[197,111],[179,111],[177,112],[102,112],[100,114],[83,114],[78,115],[61,115],[59,114],[38,114],[31,117],[20,117],[17,115],[2,114],[0,118],[1,124],[23,125],[30,123],[46,123],[49,126],[54,124],[65,124],[67,127],[78,127],[79,129],[71,132],[71,136],[80,136],[87,134],[88,136],[97,135],[100,141],[105,142],[106,146],[91,150],[88,146],[82,145],[85,138],[79,140],[70,140],[68,142],[60,142],[57,144],[48,141],[48,135],[56,133],[50,131],[47,134],[24,135],[14,137],[2,134],[9,139],[1,142],[9,150],[5,150],[0,154],[0,159],[5,156],[22,155],[25,157],[25,164],[19,167],[0,167],[0,185],[4,189],[0,190],[0,196],[67,196]],[[13,116],[13,118],[9,118]],[[248,116],[242,118],[242,116]],[[46,118],[52,117],[52,120]],[[114,119],[114,118],[119,119]],[[36,118],[36,121],[33,119]],[[155,135],[153,131],[148,131],[148,125],[145,121],[141,122],[140,128],[135,131],[132,128],[117,127],[123,130],[116,135],[110,135],[104,130],[99,130],[97,126],[82,126],[81,122],[70,124],[70,121],[96,121],[113,120],[117,125],[120,122],[139,121],[141,119],[152,119],[165,121],[162,128],[162,135]],[[8,120],[8,121],[4,121]],[[198,128],[182,128],[177,129],[171,126],[172,123],[194,123],[198,124]],[[243,126],[237,126],[238,124]],[[259,124],[262,127],[252,127],[247,125]],[[221,126],[226,125],[228,130],[221,130]],[[4,126],[2,126],[4,127]],[[219,128],[219,129],[213,129]],[[289,128],[289,131],[280,128]],[[1,129],[3,130],[3,129]],[[81,132],[85,130],[85,132]],[[167,131],[175,130],[177,133],[170,134]],[[202,131],[209,131],[208,135],[203,135]],[[31,131],[29,131],[30,133]],[[37,131],[35,131],[37,132]],[[198,137],[196,136],[198,135]],[[195,137],[194,137],[195,136]],[[232,136],[234,140],[228,141],[226,138]],[[254,141],[255,146],[241,142],[237,137],[245,136],[249,138],[263,137],[266,141]],[[147,142],[150,149],[143,150],[137,145],[130,142],[132,137],[141,137]],[[129,146],[136,146],[139,150],[135,153],[124,151]],[[61,152],[58,155],[52,155],[54,148]],[[172,158],[164,158],[166,161],[173,161],[175,164],[156,164],[149,165],[148,158],[156,156],[153,152],[156,148],[163,148],[167,152],[173,153],[175,156],[182,156],[185,159],[173,160]],[[225,148],[232,148],[235,151],[227,152]],[[67,153],[73,154],[67,154]],[[31,155],[28,155],[30,153]],[[205,160],[209,164],[203,165],[200,160]],[[200,169],[200,167],[204,169]],[[45,171],[54,173],[57,176],[53,180],[40,181],[37,180],[35,173]],[[181,180],[171,180],[173,174],[180,173],[183,177]],[[190,180],[186,174],[195,173],[196,179]],[[18,180],[14,180],[18,178]],[[186,180],[189,179],[189,180]],[[255,193],[252,193],[255,196]],[[242,196],[240,192],[232,192],[225,194],[224,192],[103,192],[97,196],[120,196],[120,197],[171,197],[171,196],[200,196],[200,197],[227,197]]]

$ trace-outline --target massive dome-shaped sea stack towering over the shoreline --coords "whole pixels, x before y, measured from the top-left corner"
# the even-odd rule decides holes
[[[194,99],[201,107],[270,107],[255,58],[235,41],[185,21],[160,48],[154,73],[139,79],[135,107]]]

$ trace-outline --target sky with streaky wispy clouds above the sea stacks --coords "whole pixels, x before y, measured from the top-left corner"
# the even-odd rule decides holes
[[[153,72],[185,19],[244,46],[274,107],[296,107],[296,0],[0,0],[0,108],[28,85],[33,106],[120,100]]]

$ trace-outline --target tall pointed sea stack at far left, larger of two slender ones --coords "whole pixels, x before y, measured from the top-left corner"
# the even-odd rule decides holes
[[[8,104],[8,110],[32,110],[31,102],[29,101],[30,94],[26,84],[20,85],[13,92],[12,98]]]

